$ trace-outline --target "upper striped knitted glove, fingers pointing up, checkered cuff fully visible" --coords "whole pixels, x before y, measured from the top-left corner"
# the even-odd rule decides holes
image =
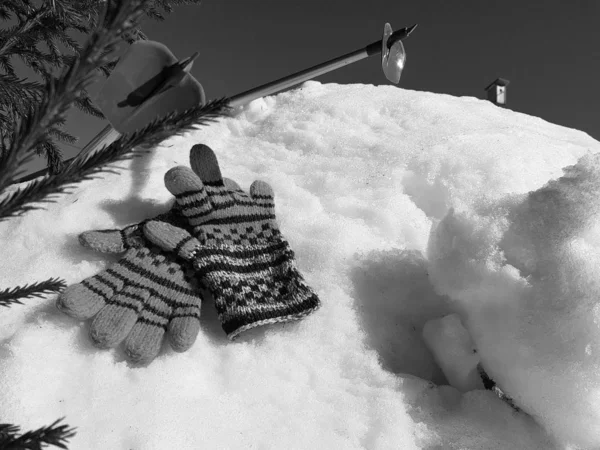
[[[149,221],[144,234],[192,264],[214,296],[227,336],[316,310],[320,301],[295,267],[294,252],[275,221],[271,187],[257,180],[247,195],[234,181],[223,180],[205,145],[192,148],[190,163],[195,173],[175,167],[165,174],[165,186],[194,237],[158,221]]]

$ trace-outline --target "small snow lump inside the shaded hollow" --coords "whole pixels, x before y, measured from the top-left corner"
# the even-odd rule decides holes
[[[479,355],[458,314],[427,321],[423,339],[451,386],[461,392],[483,389]]]

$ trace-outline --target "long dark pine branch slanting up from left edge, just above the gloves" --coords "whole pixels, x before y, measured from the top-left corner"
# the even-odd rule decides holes
[[[100,172],[117,173],[114,170],[103,168],[107,164],[132,159],[150,152],[150,150],[137,150],[137,146],[155,146],[164,139],[182,135],[188,131],[199,128],[210,122],[215,122],[229,109],[228,99],[212,101],[203,106],[190,108],[182,113],[172,113],[157,119],[135,133],[121,136],[104,149],[88,156],[87,159],[75,158],[64,170],[56,175],[46,175],[44,178],[34,180],[24,188],[18,188],[0,199],[0,222],[10,217],[18,217],[41,207],[29,206],[31,203],[54,203],[51,195],[70,194],[75,183],[98,178],[93,176]]]

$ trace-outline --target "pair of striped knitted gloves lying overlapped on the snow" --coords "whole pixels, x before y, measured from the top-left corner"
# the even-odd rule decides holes
[[[206,145],[190,165],[170,169],[172,209],[122,230],[82,233],[83,246],[125,252],[108,269],[69,286],[56,306],[79,320],[93,317],[90,338],[100,348],[124,341],[127,359],[146,364],[165,333],[188,350],[200,330],[200,287],[215,300],[230,339],[251,328],[298,320],[320,306],[295,267],[294,252],[275,220],[272,188],[254,181],[246,194],[221,176]]]

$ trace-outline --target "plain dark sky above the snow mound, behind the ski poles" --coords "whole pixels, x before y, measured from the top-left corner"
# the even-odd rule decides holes
[[[600,2],[597,0],[205,0],[175,7],[143,30],[178,57],[199,51],[192,74],[209,99],[232,96],[418,23],[404,41],[399,88],[485,98],[510,80],[508,107],[600,140]],[[379,55],[316,78],[389,84]],[[92,93],[95,88],[90,90]],[[70,114],[83,147],[104,123]],[[78,150],[62,146],[65,159]],[[45,167],[36,158],[27,172]]]

